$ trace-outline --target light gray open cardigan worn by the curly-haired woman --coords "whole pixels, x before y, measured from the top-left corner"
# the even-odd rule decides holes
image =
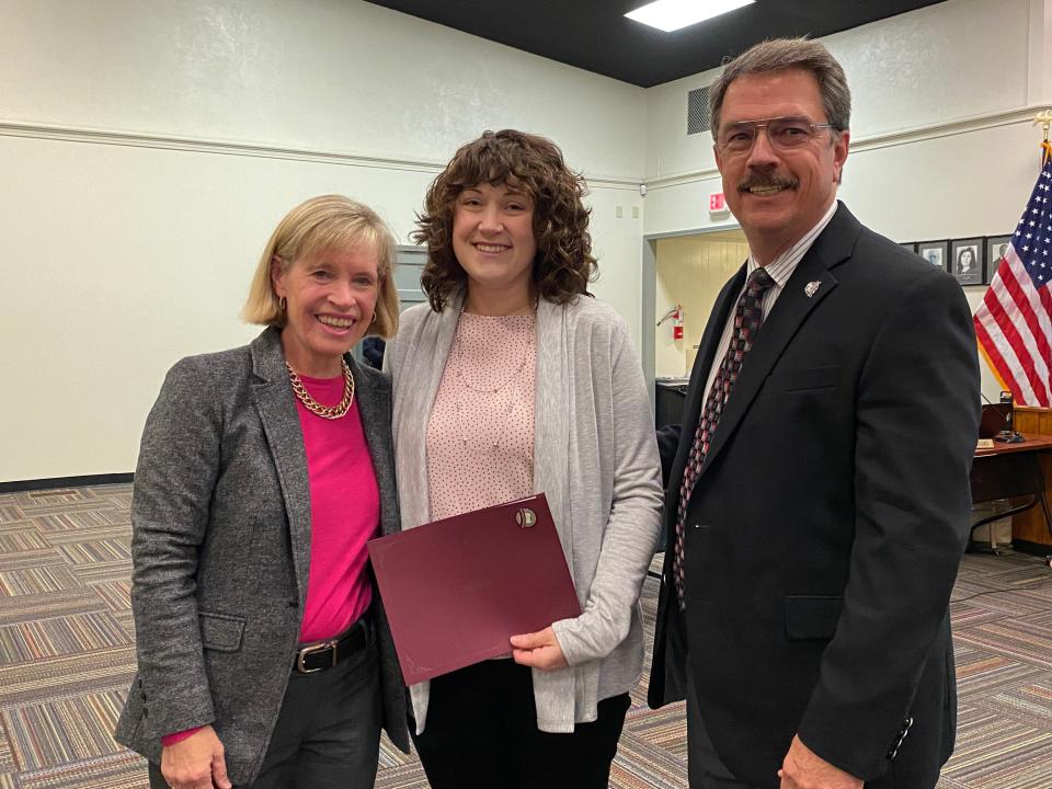
[[[431,521],[427,423],[460,302],[441,313],[407,310],[387,346],[403,528]],[[610,307],[588,297],[541,300],[536,378],[534,487],[548,498],[583,614],[553,624],[570,665],[534,670],[534,697],[541,731],[571,732],[642,672],[639,592],[658,542],[661,465],[639,361]],[[428,687],[410,688],[419,732]]]

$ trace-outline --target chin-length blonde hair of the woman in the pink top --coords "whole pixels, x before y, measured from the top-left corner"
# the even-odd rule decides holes
[[[395,237],[376,211],[343,195],[311,197],[277,224],[255,266],[241,318],[259,325],[285,325],[285,312],[271,282],[273,260],[277,259],[284,272],[300,258],[315,252],[361,248],[376,252],[380,277],[376,320],[366,335],[392,336],[398,330],[399,306],[395,284]]]

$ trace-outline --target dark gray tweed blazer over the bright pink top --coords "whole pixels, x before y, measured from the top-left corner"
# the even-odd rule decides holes
[[[391,385],[354,371],[380,491],[398,530]],[[293,666],[310,564],[310,491],[281,338],[192,356],[168,374],[146,422],[132,502],[138,673],[117,742],[160,762],[164,734],[213,724],[236,785],[251,782]],[[374,594],[384,727],[409,751],[405,686]]]

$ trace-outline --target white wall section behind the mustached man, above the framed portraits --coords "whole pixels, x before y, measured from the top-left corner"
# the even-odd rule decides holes
[[[897,241],[1014,229],[1038,174],[1052,101],[1049,0],[950,0],[826,38],[853,93],[851,153],[839,196]],[[722,190],[711,137],[686,136],[686,92],[717,71],[648,91],[644,233],[733,225],[710,221]],[[973,307],[983,289],[965,288]],[[985,369],[983,391],[999,388]]]

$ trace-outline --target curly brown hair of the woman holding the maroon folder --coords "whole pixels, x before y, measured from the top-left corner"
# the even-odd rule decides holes
[[[538,296],[567,304],[588,295],[597,266],[588,235],[591,211],[583,201],[584,179],[567,167],[551,140],[504,129],[483,132],[462,146],[431,184],[424,211],[416,215],[420,229],[413,240],[427,244],[420,285],[432,309],[441,312],[467,281],[453,251],[453,218],[460,193],[481,183],[514,186],[533,199],[537,240],[533,278]]]

